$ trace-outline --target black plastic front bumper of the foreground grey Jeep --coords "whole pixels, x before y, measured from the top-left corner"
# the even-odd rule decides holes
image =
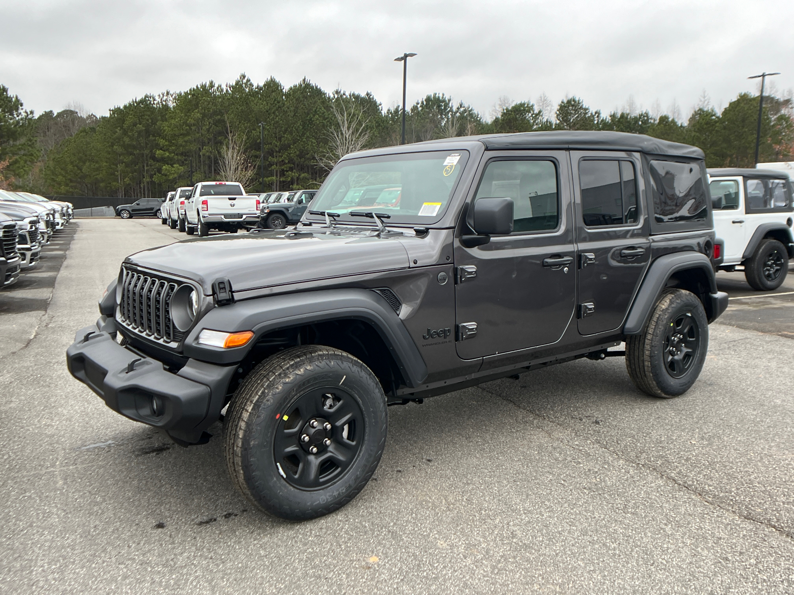
[[[66,361],[71,375],[110,409],[163,430],[183,446],[209,439],[204,430],[218,420],[237,367],[190,359],[172,374],[156,359],[122,347],[96,324],[77,332]]]

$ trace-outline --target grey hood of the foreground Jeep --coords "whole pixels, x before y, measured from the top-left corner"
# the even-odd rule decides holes
[[[409,266],[406,249],[394,237],[380,238],[365,227],[360,232],[321,229],[183,240],[137,252],[125,262],[191,278],[206,295],[217,278],[228,278],[237,292]]]

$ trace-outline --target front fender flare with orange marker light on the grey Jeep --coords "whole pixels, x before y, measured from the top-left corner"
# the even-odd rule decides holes
[[[365,289],[306,291],[215,307],[189,332],[183,353],[211,363],[237,363],[248,355],[260,336],[269,332],[344,319],[364,321],[375,328],[408,386],[413,388],[424,382],[427,366],[405,324],[384,298]],[[243,347],[209,347],[198,344],[198,334],[204,328],[225,332],[253,331],[254,337]]]

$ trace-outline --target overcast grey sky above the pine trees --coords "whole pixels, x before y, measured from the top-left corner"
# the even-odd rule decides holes
[[[0,84],[40,113],[78,102],[102,115],[144,94],[241,72],[289,86],[370,90],[408,103],[451,95],[489,117],[501,96],[556,106],[576,95],[686,116],[703,90],[727,106],[748,75],[794,87],[794,2],[360,2],[0,0]]]

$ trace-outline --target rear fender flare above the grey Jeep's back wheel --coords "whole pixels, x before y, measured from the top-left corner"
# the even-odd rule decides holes
[[[669,278],[680,271],[692,269],[702,270],[706,274],[709,282],[709,293],[712,295],[718,293],[714,268],[711,266],[711,260],[706,255],[696,251],[684,251],[660,256],[651,263],[645,278],[642,279],[642,285],[634,298],[629,315],[626,317],[623,334],[639,335],[642,333],[642,329],[645,328],[650,318],[650,313],[653,311],[653,306],[656,305],[659,294],[665,288]],[[703,304],[703,307],[711,308],[711,304]],[[709,322],[713,321],[721,313],[722,311],[717,313],[716,316],[709,317]]]

